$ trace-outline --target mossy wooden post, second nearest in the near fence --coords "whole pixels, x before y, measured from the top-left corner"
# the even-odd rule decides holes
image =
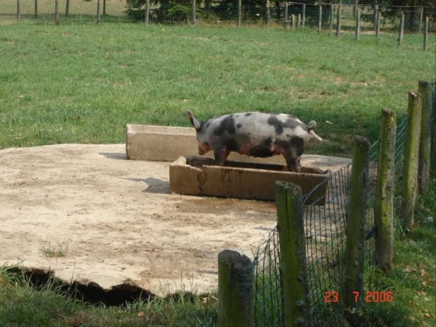
[[[277,229],[285,327],[310,326],[306,243],[300,186],[276,181]]]

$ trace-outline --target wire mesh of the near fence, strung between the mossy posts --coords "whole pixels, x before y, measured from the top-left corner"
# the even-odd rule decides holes
[[[406,147],[407,116],[399,117],[395,143],[395,198],[399,199]],[[375,265],[374,207],[380,140],[370,148],[366,186],[365,265]],[[303,196],[304,231],[306,233],[307,281],[313,326],[342,326],[341,301],[328,301],[326,294],[341,294],[345,273],[347,210],[350,199],[350,165],[342,167]],[[399,210],[399,201],[395,209]],[[397,216],[397,215],[396,215]],[[398,222],[396,222],[398,224]],[[280,248],[274,229],[259,245],[253,261],[255,272],[255,326],[283,326]],[[216,320],[203,326],[216,326]]]

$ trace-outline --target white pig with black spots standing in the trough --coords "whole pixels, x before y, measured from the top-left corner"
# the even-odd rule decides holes
[[[198,153],[213,150],[214,164],[220,166],[235,151],[261,158],[283,155],[288,171],[300,172],[300,157],[310,137],[322,141],[313,131],[316,122],[306,125],[285,114],[234,113],[205,122],[198,122],[189,110],[186,115],[197,132]]]

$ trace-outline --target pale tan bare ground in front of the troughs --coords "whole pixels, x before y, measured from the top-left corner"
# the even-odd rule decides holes
[[[343,164],[320,158],[309,165]],[[0,150],[0,264],[105,289],[216,290],[218,252],[252,257],[275,204],[170,194],[169,164],[126,160],[123,144]]]

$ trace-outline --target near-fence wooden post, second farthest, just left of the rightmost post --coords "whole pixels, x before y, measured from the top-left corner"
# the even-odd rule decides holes
[[[421,94],[409,92],[409,120],[407,122],[406,149],[401,192],[400,219],[405,229],[413,227],[418,177],[419,136],[421,127]]]

